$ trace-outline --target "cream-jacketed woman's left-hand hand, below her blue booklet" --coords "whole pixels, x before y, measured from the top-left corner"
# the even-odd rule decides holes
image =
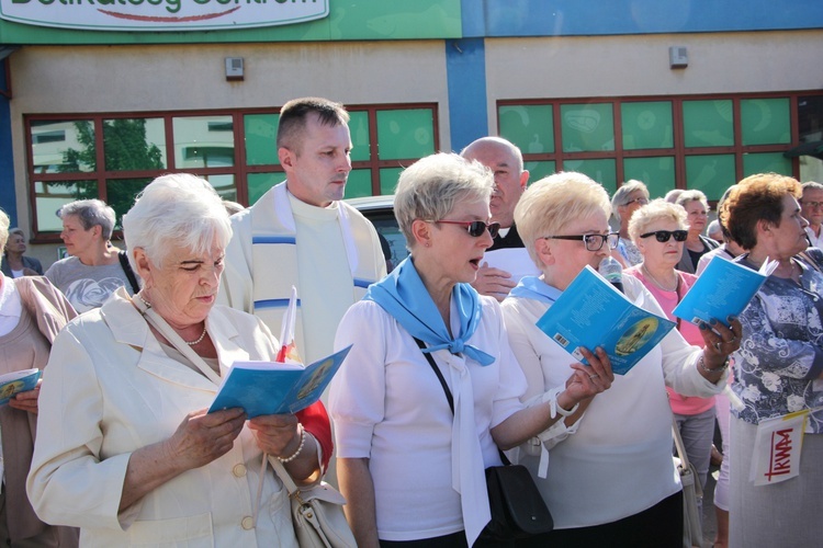
[[[232,449],[245,422],[246,413],[239,408],[208,414],[205,409],[189,413],[166,441],[169,458],[185,469],[205,466]]]

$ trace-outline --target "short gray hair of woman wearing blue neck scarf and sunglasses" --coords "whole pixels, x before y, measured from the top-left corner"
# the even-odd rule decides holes
[[[455,153],[438,152],[406,168],[394,193],[394,216],[408,248],[415,242],[412,224],[416,219],[443,219],[463,199],[488,203],[493,185],[491,170]]]

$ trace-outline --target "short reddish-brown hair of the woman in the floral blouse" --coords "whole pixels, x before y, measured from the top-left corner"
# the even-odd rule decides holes
[[[752,249],[757,244],[758,221],[780,226],[786,194],[802,196],[797,179],[778,173],[749,175],[729,190],[720,208],[720,224],[741,248]]]

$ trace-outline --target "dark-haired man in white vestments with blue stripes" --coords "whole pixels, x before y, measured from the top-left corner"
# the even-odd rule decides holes
[[[308,364],[334,352],[337,324],[386,274],[372,224],[341,202],[351,171],[349,114],[320,98],[283,105],[278,158],[285,181],[232,217],[219,301],[255,313],[280,336],[292,286],[295,336]]]

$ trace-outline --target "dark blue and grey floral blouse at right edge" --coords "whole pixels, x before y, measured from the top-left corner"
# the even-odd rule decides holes
[[[754,269],[746,258],[740,262]],[[823,274],[798,262],[802,287],[769,276],[740,317],[732,390],[745,407],[732,412],[752,424],[823,406]],[[823,409],[810,415],[805,432],[823,433]]]

